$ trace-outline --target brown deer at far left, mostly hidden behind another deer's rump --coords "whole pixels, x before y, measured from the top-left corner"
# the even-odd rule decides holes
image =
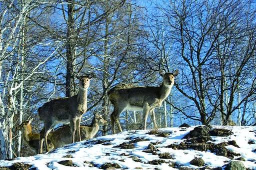
[[[20,125],[16,127],[16,130],[21,131],[22,138],[25,143],[33,150],[35,153],[38,153],[39,148],[39,133],[32,133],[31,123],[33,118],[23,121]],[[53,144],[50,140],[48,140],[49,150],[52,150]]]

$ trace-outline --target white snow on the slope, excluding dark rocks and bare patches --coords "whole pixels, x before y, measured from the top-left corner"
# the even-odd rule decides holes
[[[172,170],[175,168],[171,168],[169,166],[171,163],[175,163],[180,167],[187,167],[191,169],[198,168],[189,164],[189,162],[194,158],[202,158],[205,163],[204,167],[207,166],[209,169],[222,167],[230,162],[230,159],[223,156],[216,156],[215,153],[211,153],[210,151],[201,152],[195,150],[177,150],[166,148],[166,146],[170,144],[179,144],[183,142],[184,140],[182,140],[182,138],[188,134],[189,131],[193,130],[193,128],[194,127],[158,129],[158,131],[168,132],[170,134],[166,138],[146,134],[150,130],[128,131],[116,135],[98,137],[92,140],[70,144],[44,155],[20,157],[12,161],[0,161],[0,167],[8,167],[13,163],[20,162],[32,165],[31,168],[37,168],[38,170],[96,170],[99,169],[104,163],[116,163],[121,167],[121,169],[129,170],[152,170],[155,168],[161,170]],[[218,144],[221,142],[235,140],[236,144],[240,148],[229,145],[226,146],[226,149],[234,153],[239,153],[241,155],[239,157],[243,157],[245,159],[243,162],[245,167],[250,170],[256,170],[256,127],[213,126],[212,128],[228,129],[232,131],[233,134],[227,137],[211,137],[214,141],[212,143]],[[134,139],[138,138],[148,141],[134,141]],[[249,141],[252,144],[248,144]],[[124,142],[132,143],[135,148],[114,148],[114,146],[118,146]],[[147,149],[150,143],[154,143],[154,147],[158,149],[156,151],[157,155],[142,152]],[[159,159],[158,155],[160,153],[169,153],[172,159]],[[63,158],[66,155],[71,155],[72,158]],[[236,158],[234,157],[234,159]],[[59,161],[63,160],[72,160],[72,164],[75,167],[67,167],[58,164]],[[152,165],[150,164],[150,161],[153,160],[164,160],[165,163],[160,165]]]

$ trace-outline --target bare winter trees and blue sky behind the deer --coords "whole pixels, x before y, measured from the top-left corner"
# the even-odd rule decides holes
[[[78,92],[94,73],[87,112],[107,122],[118,84],[159,86],[178,70],[155,108],[158,127],[256,125],[256,2],[253,0],[0,0],[0,160],[28,156],[17,126],[45,102]],[[120,115],[139,129],[141,111]],[[150,117],[150,116],[149,116]],[[153,128],[147,120],[147,128]],[[98,136],[111,134],[110,124]],[[36,153],[35,153],[36,154]]]

